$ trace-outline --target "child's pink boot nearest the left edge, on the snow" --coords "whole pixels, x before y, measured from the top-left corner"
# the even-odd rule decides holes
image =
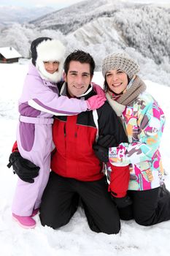
[[[18,224],[23,228],[34,228],[36,226],[36,222],[31,217],[12,214],[12,219],[15,219],[15,221],[18,222]]]

